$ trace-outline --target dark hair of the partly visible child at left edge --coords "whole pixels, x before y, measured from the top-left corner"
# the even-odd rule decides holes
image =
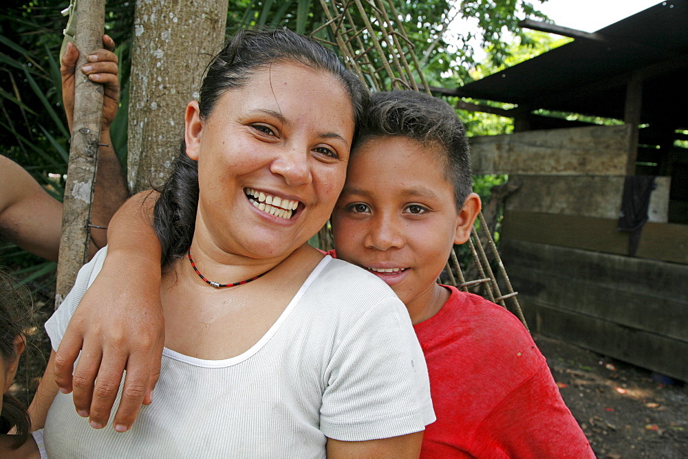
[[[0,364],[5,370],[19,358],[14,342],[17,337],[24,336],[21,322],[30,317],[28,291],[14,287],[14,282],[17,280],[0,270]],[[0,413],[0,434],[7,434],[14,428],[16,435],[12,438],[12,449],[26,442],[30,427],[26,407],[14,396],[5,394]]]

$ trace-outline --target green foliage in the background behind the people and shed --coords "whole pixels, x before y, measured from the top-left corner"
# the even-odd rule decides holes
[[[539,0],[538,0],[539,1]],[[61,106],[58,52],[66,18],[67,0],[8,0],[0,14],[0,151],[24,166],[56,199],[63,194],[69,133]],[[524,16],[541,16],[524,0],[395,1],[407,34],[416,46],[423,73],[432,86],[457,87],[544,49],[542,37],[517,27]],[[120,110],[111,127],[116,152],[126,168],[127,107],[131,38],[135,1],[108,0],[106,33],[117,44],[120,58]],[[488,49],[485,65],[477,66],[468,41],[476,32],[447,36],[455,16],[473,16]],[[288,27],[308,33],[325,23],[319,1],[234,0],[229,2],[227,34],[245,25]],[[328,27],[319,32],[330,34]],[[505,34],[510,42],[502,41]],[[332,37],[330,37],[332,38]],[[513,45],[513,43],[517,43]],[[451,42],[451,43],[450,43]],[[536,46],[537,45],[537,46]],[[539,47],[538,47],[539,46]],[[547,47],[548,45],[544,45]],[[455,103],[451,98],[449,103]],[[486,113],[461,111],[469,135],[508,133],[511,120]],[[477,190],[486,199],[493,184],[506,176],[478,179]],[[45,262],[12,245],[0,243],[0,264],[10,265],[15,276],[52,297],[55,264]]]

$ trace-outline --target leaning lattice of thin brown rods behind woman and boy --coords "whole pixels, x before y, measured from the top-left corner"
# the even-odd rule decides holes
[[[313,38],[337,47],[345,65],[366,82],[373,91],[402,89],[430,93],[420,71],[413,43],[405,32],[394,3],[383,0],[320,0],[327,22],[312,32]],[[323,34],[329,29],[330,33]],[[330,39],[322,36],[332,37]],[[325,227],[319,233],[321,248],[332,249],[332,234]],[[473,227],[468,243],[474,267],[466,269],[474,279],[466,279],[455,251],[447,260],[441,281],[463,291],[477,291],[488,300],[510,309],[528,328],[517,292],[499,256],[495,240],[482,212]],[[464,260],[469,267],[471,260]],[[499,287],[497,276],[502,280]]]

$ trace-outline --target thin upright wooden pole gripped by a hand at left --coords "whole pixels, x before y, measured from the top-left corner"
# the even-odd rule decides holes
[[[76,273],[88,260],[103,85],[91,82],[79,69],[86,56],[103,47],[105,0],[80,1],[76,12],[75,44],[79,49],[74,75],[74,123],[62,211],[62,238],[57,266],[55,309],[74,286]]]

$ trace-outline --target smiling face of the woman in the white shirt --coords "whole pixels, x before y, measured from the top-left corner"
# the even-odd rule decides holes
[[[341,82],[273,64],[224,93],[211,115],[186,109],[186,154],[198,161],[195,238],[228,254],[279,258],[327,221],[354,135]]]

